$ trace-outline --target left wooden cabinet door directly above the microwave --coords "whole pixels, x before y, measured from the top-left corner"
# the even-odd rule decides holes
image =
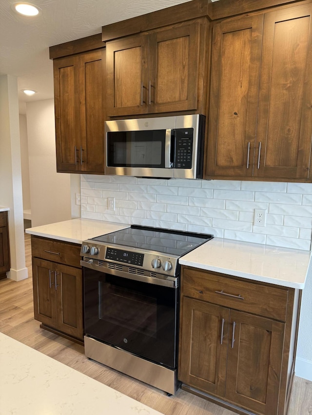
[[[106,43],[108,116],[147,113],[148,35]]]

